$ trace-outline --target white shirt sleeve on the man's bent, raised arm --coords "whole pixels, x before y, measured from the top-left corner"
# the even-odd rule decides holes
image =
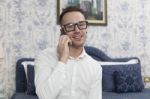
[[[35,60],[35,87],[39,99],[56,99],[64,81],[65,64],[58,62],[55,55],[39,55]]]

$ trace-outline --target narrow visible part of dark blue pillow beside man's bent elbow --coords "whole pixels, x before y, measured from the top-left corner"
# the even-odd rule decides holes
[[[34,84],[34,66],[28,65],[27,66],[27,94],[29,95],[36,95],[35,93],[35,84]]]

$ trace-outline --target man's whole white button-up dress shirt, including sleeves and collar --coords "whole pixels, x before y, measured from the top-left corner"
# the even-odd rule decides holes
[[[65,64],[48,48],[35,60],[35,86],[39,99],[102,99],[102,69],[85,50]]]

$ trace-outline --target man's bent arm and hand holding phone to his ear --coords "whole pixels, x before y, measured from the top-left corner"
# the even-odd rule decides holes
[[[39,99],[55,99],[59,95],[65,81],[65,63],[69,57],[69,42],[69,37],[63,35],[60,37],[55,53],[42,53],[37,58],[35,85]]]

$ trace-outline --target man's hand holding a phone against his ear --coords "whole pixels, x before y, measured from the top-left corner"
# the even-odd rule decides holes
[[[59,61],[66,63],[69,58],[69,44],[71,44],[71,40],[67,35],[60,36],[58,43],[58,55]]]

